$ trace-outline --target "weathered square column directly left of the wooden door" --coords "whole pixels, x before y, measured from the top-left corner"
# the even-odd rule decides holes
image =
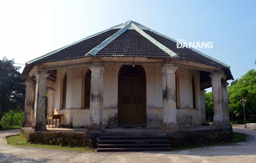
[[[102,131],[105,126],[103,119],[103,72],[106,68],[100,63],[93,63],[89,69],[91,73],[90,94],[90,125],[88,131]]]

